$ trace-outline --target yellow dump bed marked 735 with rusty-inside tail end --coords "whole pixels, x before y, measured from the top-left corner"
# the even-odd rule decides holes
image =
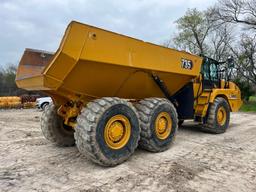
[[[183,60],[193,67],[182,67]],[[170,94],[199,75],[202,58],[100,28],[71,22],[55,54],[27,49],[16,83],[27,90],[43,90],[88,100],[103,96],[141,99],[162,97],[157,75]]]

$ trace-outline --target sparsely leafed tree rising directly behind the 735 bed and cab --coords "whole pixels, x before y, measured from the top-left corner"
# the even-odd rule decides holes
[[[230,52],[232,28],[212,19],[213,9],[198,11],[189,9],[176,21],[178,33],[173,38],[175,48],[202,54],[216,60],[224,60]],[[171,41],[166,42],[170,45]]]

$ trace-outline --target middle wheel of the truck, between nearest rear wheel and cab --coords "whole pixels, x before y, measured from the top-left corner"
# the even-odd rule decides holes
[[[178,116],[173,104],[163,98],[148,98],[136,104],[136,109],[141,126],[139,146],[151,152],[167,150],[178,129]]]

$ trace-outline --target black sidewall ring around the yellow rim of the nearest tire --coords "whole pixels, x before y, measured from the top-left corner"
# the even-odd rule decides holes
[[[131,124],[131,135],[127,144],[121,149],[112,149],[104,140],[104,130],[108,120],[115,115],[124,115]],[[107,109],[101,116],[96,127],[96,142],[101,152],[108,159],[118,160],[130,156],[138,145],[140,135],[139,120],[136,113],[125,104],[116,104]]]

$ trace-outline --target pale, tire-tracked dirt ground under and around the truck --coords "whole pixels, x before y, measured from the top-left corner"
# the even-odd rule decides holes
[[[221,135],[185,123],[168,151],[137,150],[114,168],[53,146],[40,115],[0,111],[0,191],[256,191],[256,114],[232,114]]]

